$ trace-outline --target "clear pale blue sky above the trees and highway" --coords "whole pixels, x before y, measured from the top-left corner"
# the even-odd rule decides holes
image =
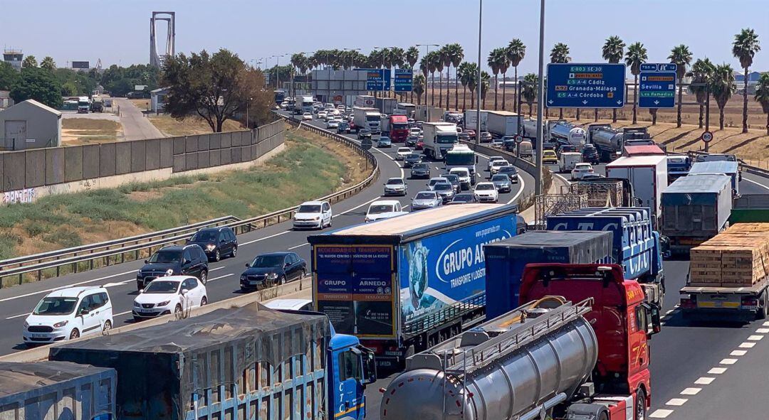
[[[465,60],[478,57],[475,0],[2,0],[0,43],[38,60],[51,55],[59,66],[98,58],[105,67],[147,63],[152,11],[176,12],[177,52],[229,48],[250,60],[319,48],[368,52],[375,45],[459,42]],[[604,39],[619,35],[627,44],[643,42],[649,61],[666,61],[683,43],[695,59],[739,68],[731,41],[750,27],[763,48],[753,67],[769,70],[769,0],[548,0],[545,19],[546,54],[565,42],[574,62],[602,61]],[[521,38],[527,55],[519,71],[536,71],[538,23],[539,0],[486,0],[482,60],[491,48]]]

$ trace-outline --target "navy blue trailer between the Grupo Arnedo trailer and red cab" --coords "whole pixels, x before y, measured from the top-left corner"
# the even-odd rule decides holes
[[[534,230],[484,246],[486,260],[486,318],[518,306],[521,274],[528,263],[610,263],[610,231]]]

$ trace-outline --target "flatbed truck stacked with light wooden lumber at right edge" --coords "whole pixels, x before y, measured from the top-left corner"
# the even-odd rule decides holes
[[[767,316],[769,223],[739,223],[691,249],[685,318],[727,315],[750,321]]]

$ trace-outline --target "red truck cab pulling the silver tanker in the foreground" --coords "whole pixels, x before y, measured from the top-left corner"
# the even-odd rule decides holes
[[[644,303],[638,282],[624,279],[622,267],[614,264],[528,264],[520,296],[521,304],[544,296],[594,299],[593,310],[585,315],[598,338],[594,393],[584,395],[588,404],[569,410],[594,418],[604,412],[608,420],[631,418],[631,412],[632,418],[646,418],[651,405],[648,340],[659,332],[660,317]]]

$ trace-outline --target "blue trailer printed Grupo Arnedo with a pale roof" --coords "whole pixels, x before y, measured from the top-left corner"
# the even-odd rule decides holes
[[[483,315],[482,246],[515,236],[516,210],[445,206],[308,236],[315,309],[382,367],[401,365]]]

